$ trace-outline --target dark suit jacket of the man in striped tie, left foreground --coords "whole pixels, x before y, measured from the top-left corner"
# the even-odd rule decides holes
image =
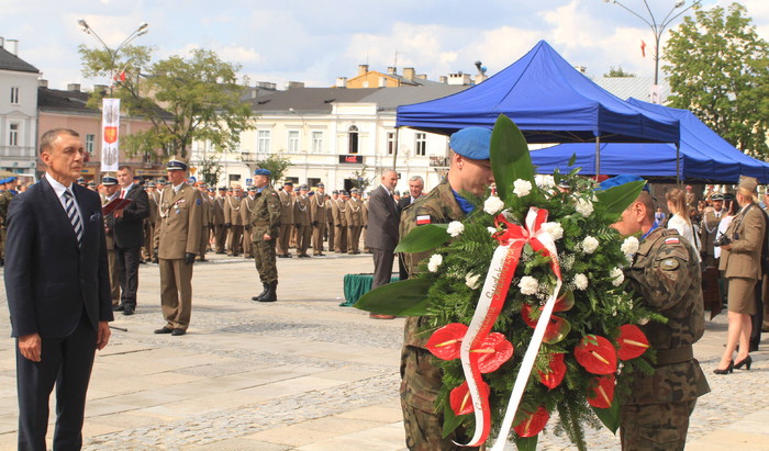
[[[13,337],[66,337],[83,307],[94,330],[113,319],[101,199],[76,183],[73,192],[83,222],[81,247],[45,178],[11,202],[4,277]]]

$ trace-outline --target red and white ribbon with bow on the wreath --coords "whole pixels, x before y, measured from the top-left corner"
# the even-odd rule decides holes
[[[521,252],[526,244],[535,251],[550,257],[550,268],[556,275],[557,283],[555,290],[545,303],[542,316],[534,329],[532,341],[523,358],[521,371],[515,379],[515,385],[513,386],[504,420],[501,425],[500,435],[492,451],[501,451],[504,448],[515,411],[517,410],[521,396],[523,395],[523,390],[526,386],[532,368],[534,367],[534,360],[542,345],[548,318],[553,313],[553,307],[561,286],[561,274],[560,267],[558,266],[558,252],[555,240],[550,234],[542,228],[542,225],[547,222],[547,210],[531,207],[526,214],[524,226],[509,222],[503,214],[499,214],[494,218],[497,226],[504,226],[504,229],[494,235],[500,246],[494,250],[491,258],[491,266],[486,275],[483,289],[478,300],[478,306],[472,315],[472,320],[470,320],[459,351],[462,372],[467,380],[476,419],[475,433],[470,441],[464,446],[478,447],[486,442],[489,437],[491,429],[491,409],[489,406],[488,392],[481,390],[481,387],[484,386],[484,382],[481,379],[479,369],[480,356],[476,352],[471,352],[471,350],[477,349],[481,345],[497,322],[504,306],[504,301],[508,297],[510,284],[515,275],[515,269],[521,259]]]

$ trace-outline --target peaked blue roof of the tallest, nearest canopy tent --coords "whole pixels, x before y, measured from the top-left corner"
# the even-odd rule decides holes
[[[462,92],[398,108],[397,126],[448,135],[508,115],[530,143],[679,140],[678,121],[642,111],[571,67],[545,41]]]

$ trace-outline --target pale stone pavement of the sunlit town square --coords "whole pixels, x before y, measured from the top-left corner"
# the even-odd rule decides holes
[[[332,253],[278,264],[279,302],[259,304],[249,300],[260,291],[253,260],[214,256],[196,263],[183,337],[152,334],[163,325],[158,270],[142,266],[136,314],[115,316],[113,325],[127,331],[113,330],[97,356],[83,448],[404,449],[398,397],[403,319],[371,320],[338,306],[344,274],[370,272],[371,258]],[[7,315],[0,315],[0,330],[10,330]],[[750,371],[716,376],[725,331],[721,315],[695,347],[712,393],[698,403],[688,449],[769,449],[769,409],[759,393],[769,381],[767,352],[753,354]],[[10,338],[0,340],[0,450],[15,449]],[[539,449],[573,449],[551,428],[546,432]],[[605,429],[586,433],[590,449],[618,449]]]

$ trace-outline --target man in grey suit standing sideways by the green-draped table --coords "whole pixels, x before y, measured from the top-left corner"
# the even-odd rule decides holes
[[[399,214],[392,190],[398,183],[398,173],[387,170],[382,173],[382,181],[371,193],[368,202],[368,233],[366,234],[366,247],[374,255],[374,281],[371,289],[384,285],[392,278],[392,261],[398,246]],[[374,319],[391,319],[390,315],[370,314]]]

